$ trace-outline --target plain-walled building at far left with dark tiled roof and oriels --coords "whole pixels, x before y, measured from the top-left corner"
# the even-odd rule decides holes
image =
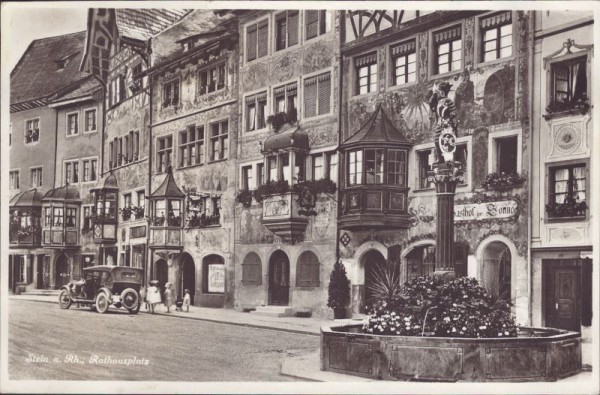
[[[79,71],[84,44],[85,32],[36,40],[11,73],[12,292],[56,289],[96,254],[81,204],[98,176],[102,87]]]

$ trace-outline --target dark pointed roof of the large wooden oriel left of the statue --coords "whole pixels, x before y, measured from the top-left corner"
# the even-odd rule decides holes
[[[377,106],[369,119],[356,133],[348,137],[340,148],[351,148],[364,145],[394,145],[410,146],[412,143],[390,121],[381,104]]]

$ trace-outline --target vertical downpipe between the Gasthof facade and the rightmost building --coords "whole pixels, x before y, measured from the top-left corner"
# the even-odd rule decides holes
[[[533,78],[534,78],[534,72],[533,72],[533,57],[535,56],[535,10],[530,11],[530,18],[529,18],[529,43],[530,43],[530,53],[529,53],[529,81],[527,81],[527,89],[529,90],[529,97],[527,98],[528,100],[528,104],[529,104],[529,144],[527,144],[527,146],[529,147],[529,188],[528,188],[528,197],[527,197],[527,206],[528,206],[528,212],[529,212],[529,221],[527,221],[527,301],[528,301],[528,325],[529,326],[533,326],[533,300],[532,300],[532,296],[533,296],[533,273],[532,273],[532,269],[533,269],[533,265],[532,265],[532,257],[531,257],[531,234],[532,234],[532,208],[533,208],[533,203],[532,203],[532,197],[533,197],[533,188],[531,186],[531,178],[532,178],[532,171],[533,171],[533,144],[531,143],[533,141],[533,132],[534,132],[534,127],[533,127],[533,115],[534,115],[534,109],[533,109]]]

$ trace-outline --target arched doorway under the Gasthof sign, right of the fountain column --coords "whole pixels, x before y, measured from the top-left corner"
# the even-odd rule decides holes
[[[511,260],[510,249],[501,241],[490,243],[483,251],[483,285],[492,296],[507,301],[511,299]]]

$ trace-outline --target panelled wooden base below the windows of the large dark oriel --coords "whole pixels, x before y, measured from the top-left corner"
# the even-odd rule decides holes
[[[342,229],[408,228],[406,188],[363,185],[341,193],[342,212],[338,224]]]

